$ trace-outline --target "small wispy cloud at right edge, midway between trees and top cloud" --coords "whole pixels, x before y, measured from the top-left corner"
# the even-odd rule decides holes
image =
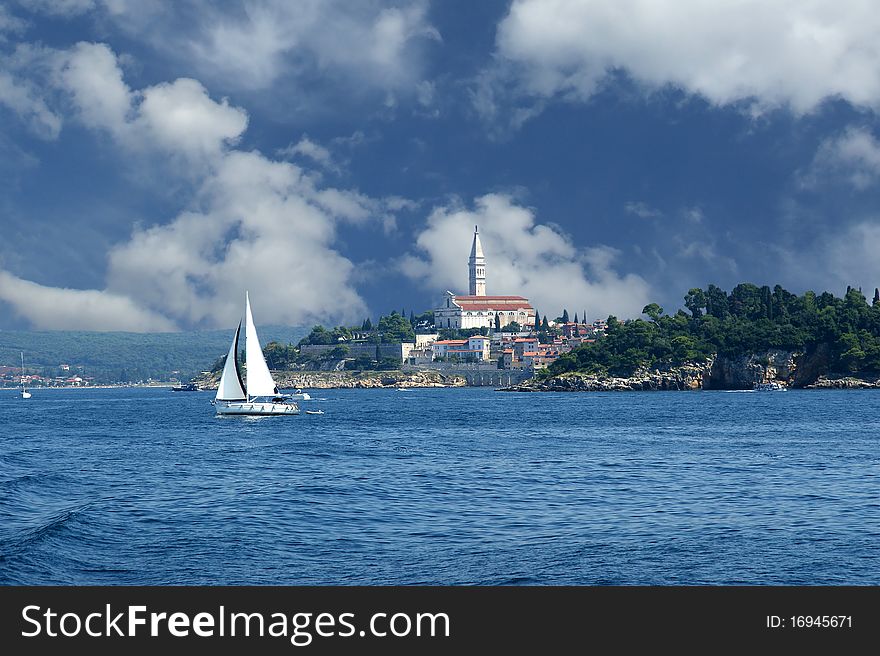
[[[806,187],[840,179],[859,190],[867,189],[880,179],[880,142],[870,130],[851,127],[841,135],[824,140],[812,165],[800,176],[801,184]]]

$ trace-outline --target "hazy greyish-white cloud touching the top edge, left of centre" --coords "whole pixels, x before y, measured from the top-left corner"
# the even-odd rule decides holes
[[[419,81],[419,41],[439,39],[427,3],[264,0],[242,12],[205,8],[185,35],[202,71],[241,88],[264,89],[284,75],[343,75],[381,89]]]

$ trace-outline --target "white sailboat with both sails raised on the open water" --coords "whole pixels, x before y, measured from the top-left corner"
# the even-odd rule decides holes
[[[238,366],[238,342],[241,336],[241,322],[235,330],[220,385],[212,403],[218,415],[298,415],[299,406],[278,392],[278,386],[266,366],[263,349],[257,337],[254,317],[251,314],[251,301],[245,292],[245,362],[247,363],[247,383],[241,380]]]

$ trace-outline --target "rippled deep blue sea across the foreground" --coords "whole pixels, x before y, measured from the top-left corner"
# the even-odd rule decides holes
[[[880,392],[312,396],[0,391],[0,583],[880,583]]]

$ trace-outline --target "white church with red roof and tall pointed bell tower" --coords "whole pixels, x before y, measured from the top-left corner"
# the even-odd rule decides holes
[[[523,329],[535,323],[535,308],[522,296],[486,295],[486,258],[480,243],[480,232],[474,226],[474,242],[468,259],[469,293],[458,296],[446,292],[441,307],[434,310],[434,326],[437,328],[494,328],[498,316],[501,327],[516,322]]]

